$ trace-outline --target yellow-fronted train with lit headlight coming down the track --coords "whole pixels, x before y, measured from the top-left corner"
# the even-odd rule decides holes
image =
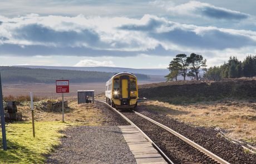
[[[117,73],[106,82],[106,102],[115,108],[135,108],[138,99],[137,77],[128,72]]]

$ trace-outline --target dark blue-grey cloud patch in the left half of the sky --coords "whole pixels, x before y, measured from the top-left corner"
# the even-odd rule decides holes
[[[58,44],[60,46],[74,46],[74,44],[95,45],[99,36],[90,29],[81,31],[57,31],[42,24],[32,23],[17,27],[13,30],[13,39],[42,44]]]

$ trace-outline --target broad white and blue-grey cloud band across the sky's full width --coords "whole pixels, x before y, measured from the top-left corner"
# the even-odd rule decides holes
[[[4,18],[0,56],[168,56],[255,47],[256,32],[142,18],[39,16]]]

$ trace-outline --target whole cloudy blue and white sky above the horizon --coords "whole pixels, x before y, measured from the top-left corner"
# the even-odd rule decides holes
[[[256,54],[256,1],[0,1],[0,66],[208,67]]]

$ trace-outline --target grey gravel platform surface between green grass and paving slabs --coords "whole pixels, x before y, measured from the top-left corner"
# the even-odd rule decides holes
[[[117,126],[67,128],[47,163],[136,163]]]

